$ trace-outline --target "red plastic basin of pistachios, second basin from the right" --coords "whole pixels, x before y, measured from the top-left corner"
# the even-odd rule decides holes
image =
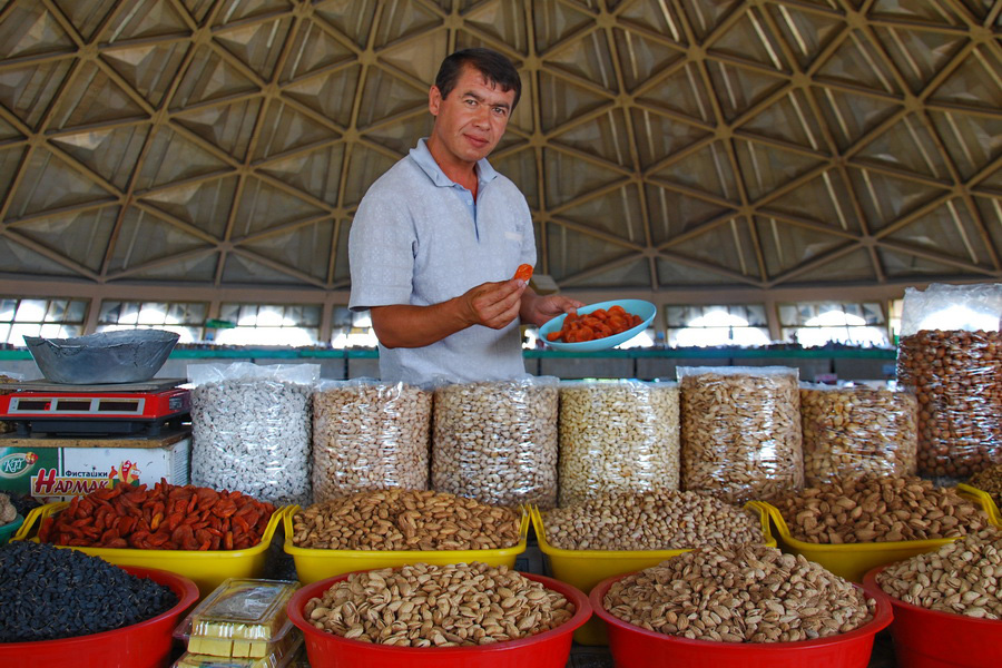
[[[616,668],[866,668],[873,637],[891,623],[891,603],[875,598],[873,620],[855,631],[796,642],[716,642],[656,633],[610,615],[602,603],[612,582],[591,590],[591,607],[609,629]],[[854,587],[856,587],[854,584]]]

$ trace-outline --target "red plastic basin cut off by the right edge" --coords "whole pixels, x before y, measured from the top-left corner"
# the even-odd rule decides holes
[[[863,577],[866,592],[894,609],[891,636],[898,668],[1002,666],[1002,621],[929,610],[885,593],[876,582],[882,566]]]

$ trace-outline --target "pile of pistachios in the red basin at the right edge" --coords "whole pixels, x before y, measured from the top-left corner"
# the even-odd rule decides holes
[[[1002,531],[989,527],[892,563],[880,588],[906,603],[976,619],[1002,619]]]

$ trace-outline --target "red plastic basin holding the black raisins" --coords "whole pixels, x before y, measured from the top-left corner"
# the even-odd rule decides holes
[[[126,572],[166,584],[178,602],[169,610],[132,626],[35,642],[0,644],[3,668],[161,668],[170,658],[171,633],[180,616],[198,600],[198,588],[191,580],[153,568],[119,567]],[[107,596],[115,596],[109,591]]]

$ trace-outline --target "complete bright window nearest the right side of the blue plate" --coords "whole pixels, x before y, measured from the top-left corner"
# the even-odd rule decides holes
[[[667,306],[665,317],[671,347],[769,343],[769,326],[762,304]]]

